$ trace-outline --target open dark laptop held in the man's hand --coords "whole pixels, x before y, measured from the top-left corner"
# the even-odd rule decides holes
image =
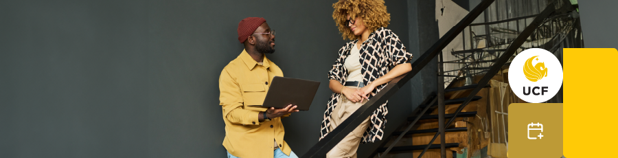
[[[300,111],[308,111],[320,82],[275,76],[264,98],[264,107],[285,108],[296,105]]]

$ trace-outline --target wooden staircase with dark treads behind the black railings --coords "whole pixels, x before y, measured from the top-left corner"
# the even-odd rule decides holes
[[[469,92],[476,87],[478,87],[478,84],[471,84],[471,85],[462,86],[462,87],[450,87],[448,89],[444,89],[444,92],[447,93],[446,98],[449,98],[451,95],[457,95],[457,93],[466,92],[466,91]],[[489,86],[485,86],[483,88],[487,88],[487,87]],[[474,96],[472,97],[471,102],[474,103],[478,100],[481,100],[482,98],[483,97],[481,96]],[[435,102],[436,99],[437,99],[436,93],[429,95],[428,98],[426,98],[417,107],[417,109],[413,111],[413,114],[407,117],[408,122],[405,123],[403,126],[400,126],[400,128],[398,128],[397,131],[391,133],[389,138],[387,138],[390,141],[385,141],[383,144],[381,144],[381,147],[378,148],[369,157],[384,156],[383,153],[388,149],[388,146],[390,146],[391,144],[395,144],[395,146],[393,146],[393,148],[389,150],[389,154],[386,157],[393,157],[393,158],[394,157],[418,157],[422,153],[422,150],[424,150],[424,148],[427,147],[427,144],[429,143],[429,140],[431,140],[433,135],[439,132],[439,124],[438,124],[439,115],[437,115],[438,104],[437,102]],[[457,106],[459,106],[465,100],[466,98],[455,98],[455,99],[444,100],[444,104],[446,104],[445,109],[451,109],[451,111],[453,111],[453,109],[456,109]],[[431,104],[431,102],[433,102],[433,104]],[[424,109],[426,108],[428,108],[427,111],[431,111],[431,113],[430,112],[422,113],[422,111],[424,111]],[[468,139],[468,127],[467,127],[466,122],[464,122],[464,120],[467,120],[468,117],[476,117],[477,111],[474,107],[466,108],[464,110],[471,110],[471,111],[460,112],[457,115],[455,115],[454,113],[447,112],[444,115],[445,119],[450,119],[450,118],[455,117],[455,124],[451,126],[447,126],[444,129],[444,132],[446,133],[445,134],[446,136],[445,148],[453,149],[451,152],[446,153],[446,157],[456,156],[457,154],[455,153],[455,151],[459,150],[459,147],[462,145],[461,143],[463,144],[468,143],[466,140]],[[418,116],[420,117],[417,120]],[[417,122],[415,122],[415,120],[417,120]],[[412,127],[414,128],[414,130],[405,131],[404,130],[405,127],[409,126],[413,122],[416,123]],[[400,139],[398,142],[395,142],[394,141],[395,138],[400,135],[403,135],[402,139]],[[439,142],[434,142],[433,144],[431,144],[431,146],[428,146],[428,147],[429,148],[426,152],[425,157],[436,157],[436,156],[439,157],[440,155],[439,152],[441,148]]]

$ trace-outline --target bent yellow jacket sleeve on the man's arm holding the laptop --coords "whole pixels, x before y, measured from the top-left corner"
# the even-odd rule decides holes
[[[226,69],[219,76],[219,104],[223,109],[223,117],[232,124],[260,124],[259,111],[242,109],[242,93],[236,80],[233,80]]]

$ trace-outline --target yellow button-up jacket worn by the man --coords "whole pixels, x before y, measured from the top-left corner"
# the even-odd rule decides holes
[[[223,146],[236,157],[273,157],[273,141],[286,154],[292,149],[284,141],[284,126],[281,117],[259,122],[258,114],[266,111],[260,106],[275,76],[283,72],[275,63],[264,56],[263,64],[253,60],[242,50],[219,77],[219,101],[225,122]],[[258,105],[258,106],[251,106]],[[289,115],[285,115],[286,117]]]

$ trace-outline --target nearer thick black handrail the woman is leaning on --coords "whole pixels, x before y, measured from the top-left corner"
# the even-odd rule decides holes
[[[494,2],[494,0],[483,0],[477,7],[468,13],[464,19],[461,19],[457,25],[453,26],[442,36],[439,40],[433,44],[422,56],[420,56],[417,60],[412,63],[412,70],[405,75],[399,76],[398,78],[391,80],[389,84],[382,89],[382,91],[378,92],[372,100],[367,101],[363,106],[358,108],[356,112],[352,113],[350,117],[348,117],[345,121],[341,122],[337,128],[331,131],[328,135],[323,137],[317,144],[312,146],[303,158],[310,157],[324,157],[326,153],[328,153],[336,144],[341,142],[341,139],[345,137],[348,133],[352,132],[356,126],[361,124],[369,115],[374,113],[378,106],[387,102],[387,100],[395,94],[400,87],[403,87],[408,80],[410,80],[413,76],[418,74],[421,69],[423,69],[439,52],[442,52],[442,49],[448,45],[461,31],[464,31],[474,19],[477,19],[486,8],[489,7]]]

